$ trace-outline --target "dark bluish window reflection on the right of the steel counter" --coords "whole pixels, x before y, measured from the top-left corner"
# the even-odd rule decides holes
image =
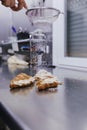
[[[86,130],[87,80],[65,78],[64,93],[68,129]]]

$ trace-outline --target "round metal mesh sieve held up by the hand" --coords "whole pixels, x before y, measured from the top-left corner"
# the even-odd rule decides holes
[[[60,10],[51,7],[35,7],[26,11],[29,21],[33,24],[53,23],[60,13]]]

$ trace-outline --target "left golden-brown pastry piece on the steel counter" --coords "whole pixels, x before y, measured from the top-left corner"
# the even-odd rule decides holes
[[[26,87],[33,84],[35,81],[34,77],[29,76],[25,73],[18,74],[15,78],[13,78],[10,82],[10,88],[19,88],[19,87]]]

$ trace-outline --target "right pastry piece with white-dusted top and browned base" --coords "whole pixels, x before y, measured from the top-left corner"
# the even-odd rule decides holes
[[[45,90],[49,88],[56,88],[59,84],[61,84],[57,77],[46,70],[40,70],[35,75],[36,86],[38,90]]]

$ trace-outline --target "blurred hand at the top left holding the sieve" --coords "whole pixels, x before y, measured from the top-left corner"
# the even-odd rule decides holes
[[[22,8],[27,9],[25,0],[1,0],[1,4],[10,7],[13,11],[19,11]]]

